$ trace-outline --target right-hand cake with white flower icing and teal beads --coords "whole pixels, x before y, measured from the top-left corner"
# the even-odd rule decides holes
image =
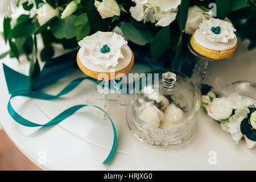
[[[237,48],[236,29],[225,20],[210,18],[203,20],[191,38],[192,48],[214,60],[228,59]]]

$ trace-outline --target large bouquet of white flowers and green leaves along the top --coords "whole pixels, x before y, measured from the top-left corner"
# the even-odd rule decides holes
[[[216,3],[216,9],[209,11],[211,3]],[[179,69],[182,61],[178,58],[188,51],[189,34],[212,15],[228,17],[237,35],[250,39],[249,49],[254,48],[255,8],[254,1],[246,0],[1,0],[1,29],[10,51],[0,59],[8,54],[17,59],[26,55],[31,61],[32,86],[40,73],[38,57],[33,56],[37,50],[35,35],[43,39],[39,60],[47,61],[55,53],[53,43],[65,49],[77,48],[85,36],[118,26],[130,42],[145,46],[155,60],[167,50],[173,52],[175,59],[162,60],[162,65]],[[17,9],[23,13],[17,16],[15,13],[21,12]]]

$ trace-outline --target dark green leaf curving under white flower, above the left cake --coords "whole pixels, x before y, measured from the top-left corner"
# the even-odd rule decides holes
[[[93,32],[108,31],[112,18],[102,19],[94,6],[94,0],[90,0],[88,3],[86,13]]]

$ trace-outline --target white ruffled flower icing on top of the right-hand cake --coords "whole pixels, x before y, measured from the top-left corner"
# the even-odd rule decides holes
[[[220,34],[215,34],[211,29],[212,27],[218,26],[221,28]],[[232,23],[221,19],[210,18],[209,20],[203,20],[199,28],[204,38],[212,42],[228,43],[229,40],[236,38],[236,34],[234,34],[236,29],[233,27]]]

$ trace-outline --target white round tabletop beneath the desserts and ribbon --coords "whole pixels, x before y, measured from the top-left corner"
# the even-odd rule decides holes
[[[2,51],[8,49],[0,44]],[[256,81],[256,50],[247,51],[246,43],[240,43],[232,59],[209,65],[207,82],[219,77],[222,82],[237,80]],[[2,62],[2,60],[1,60]],[[27,63],[17,63],[9,57],[3,62],[22,73],[28,72]],[[136,69],[142,68],[135,65]],[[113,132],[109,121],[102,120],[97,109],[84,108],[59,125],[47,128],[30,128],[16,123],[7,112],[10,95],[7,92],[2,64],[0,68],[0,122],[13,143],[37,166],[46,170],[226,170],[256,169],[256,149],[246,148],[245,142],[236,144],[229,134],[221,130],[220,125],[210,119],[203,109],[200,110],[196,132],[183,146],[160,149],[137,140],[126,125],[126,107],[110,103],[109,111],[118,133],[117,151],[109,164],[101,164],[110,151]],[[56,84],[44,88],[51,94],[59,92],[73,78],[84,76],[74,71]],[[18,81],[18,80],[17,80]],[[23,117],[37,123],[46,123],[67,107],[84,104],[92,97],[93,85],[82,82],[72,93],[54,101],[32,100],[17,97],[12,100],[14,109]],[[46,164],[39,164],[41,151],[46,154]],[[210,165],[209,152],[216,151],[217,164]]]

